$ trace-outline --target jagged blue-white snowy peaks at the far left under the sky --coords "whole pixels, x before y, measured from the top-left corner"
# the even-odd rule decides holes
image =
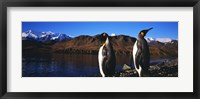
[[[48,32],[36,32],[32,30],[28,30],[26,32],[22,32],[22,40],[36,40],[36,41],[62,41],[66,39],[71,39],[72,37],[66,35],[66,34],[61,34],[61,33],[54,33],[51,31]]]

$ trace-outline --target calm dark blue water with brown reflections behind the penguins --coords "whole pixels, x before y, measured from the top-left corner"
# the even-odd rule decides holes
[[[130,57],[117,56],[116,71],[129,64]],[[93,77],[99,76],[98,56],[89,54],[23,55],[23,77]]]

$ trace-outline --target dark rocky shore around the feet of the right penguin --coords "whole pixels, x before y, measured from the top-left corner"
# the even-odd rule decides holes
[[[178,77],[178,59],[151,64],[149,72],[150,77]],[[138,77],[138,74],[135,69],[124,65],[123,70],[116,72],[115,77]]]

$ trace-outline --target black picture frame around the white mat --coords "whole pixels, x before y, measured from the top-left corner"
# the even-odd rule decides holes
[[[7,7],[193,7],[193,92],[7,92]],[[167,16],[166,16],[167,17]],[[199,99],[200,0],[1,0],[0,1],[0,97],[35,98],[116,98],[116,99]]]

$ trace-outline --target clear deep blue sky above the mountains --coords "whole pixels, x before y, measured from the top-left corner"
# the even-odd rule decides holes
[[[129,35],[137,37],[141,30],[153,27],[146,37],[178,38],[178,22],[22,22],[22,32],[52,31],[70,36],[94,36],[103,32],[111,35]]]

